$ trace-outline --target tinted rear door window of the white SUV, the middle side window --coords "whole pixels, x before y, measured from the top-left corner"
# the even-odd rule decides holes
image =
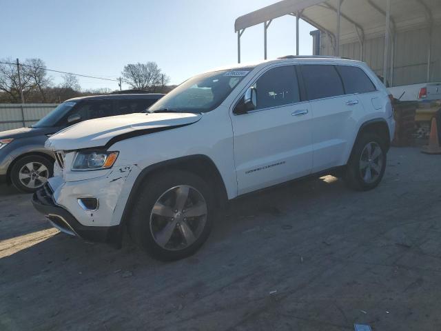
[[[342,80],[334,66],[308,64],[300,66],[309,100],[336,97],[345,94]]]

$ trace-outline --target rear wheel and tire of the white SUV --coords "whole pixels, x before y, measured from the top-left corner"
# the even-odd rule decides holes
[[[367,132],[357,139],[347,163],[345,179],[349,187],[367,191],[378,186],[386,170],[385,146],[375,133]]]

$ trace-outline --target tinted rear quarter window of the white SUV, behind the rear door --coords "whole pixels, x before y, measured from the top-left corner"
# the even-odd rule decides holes
[[[371,79],[358,67],[336,66],[345,86],[346,94],[366,93],[376,90]]]

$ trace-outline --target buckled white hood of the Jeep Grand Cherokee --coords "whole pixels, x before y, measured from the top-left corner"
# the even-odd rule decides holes
[[[160,112],[136,113],[83,121],[52,135],[49,150],[79,150],[106,146],[113,141],[178,128],[201,119],[201,114]]]

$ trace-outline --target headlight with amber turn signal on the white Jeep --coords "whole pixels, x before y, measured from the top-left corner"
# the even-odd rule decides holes
[[[101,170],[111,168],[118,152],[77,152],[72,170]]]

